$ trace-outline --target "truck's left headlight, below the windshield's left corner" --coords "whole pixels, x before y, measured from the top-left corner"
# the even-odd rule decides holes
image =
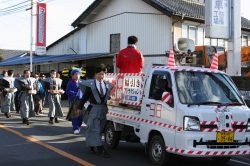
[[[200,121],[197,117],[185,116],[183,125],[185,131],[200,131]]]

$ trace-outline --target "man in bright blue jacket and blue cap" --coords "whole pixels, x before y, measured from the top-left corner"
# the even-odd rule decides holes
[[[66,119],[71,120],[74,134],[79,134],[83,121],[83,112],[85,110],[83,108],[81,115],[77,113],[78,105],[83,96],[82,91],[79,89],[79,83],[82,82],[82,80],[80,80],[82,72],[80,69],[74,69],[70,75],[72,79],[69,80],[66,87],[66,94],[68,95],[69,101],[69,112]]]

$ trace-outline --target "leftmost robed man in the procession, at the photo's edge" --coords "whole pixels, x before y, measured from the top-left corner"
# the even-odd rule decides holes
[[[14,87],[14,81],[13,78],[14,72],[13,70],[8,70],[8,76],[2,77],[2,102],[1,102],[1,111],[4,113],[4,115],[9,118],[11,117],[10,111],[14,111],[14,92],[17,91],[17,89]]]

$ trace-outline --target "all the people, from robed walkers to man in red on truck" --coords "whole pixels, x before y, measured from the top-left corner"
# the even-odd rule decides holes
[[[128,37],[128,47],[121,50],[117,57],[116,66],[120,73],[139,73],[144,66],[144,59],[136,49],[138,39],[135,36]],[[104,64],[95,68],[94,79],[81,80],[81,70],[71,71],[71,79],[66,87],[69,101],[69,112],[66,119],[72,122],[74,134],[78,134],[82,122],[86,124],[86,144],[91,154],[95,154],[95,148],[102,157],[109,158],[102,145],[102,131],[106,124],[108,112],[107,100],[113,85],[104,81],[107,68]],[[24,70],[23,75],[14,77],[13,70],[4,70],[0,77],[1,111],[6,118],[11,117],[10,111],[20,113],[22,122],[29,125],[30,118],[42,113],[45,98],[49,104],[49,123],[59,123],[63,117],[60,95],[62,80],[56,70],[50,71],[50,77],[45,78],[40,73],[31,77],[29,70]],[[85,109],[84,104],[89,101]]]

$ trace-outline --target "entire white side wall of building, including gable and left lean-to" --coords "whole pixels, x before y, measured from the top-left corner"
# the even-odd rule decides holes
[[[171,44],[172,19],[142,0],[104,0],[94,11],[92,22],[47,50],[47,55],[110,52],[110,34],[121,35],[120,49],[127,46],[127,37],[139,39],[143,54],[164,54]],[[124,13],[135,12],[135,13]],[[121,14],[122,13],[122,14]],[[118,15],[117,15],[118,14]],[[99,21],[98,21],[99,20]]]

